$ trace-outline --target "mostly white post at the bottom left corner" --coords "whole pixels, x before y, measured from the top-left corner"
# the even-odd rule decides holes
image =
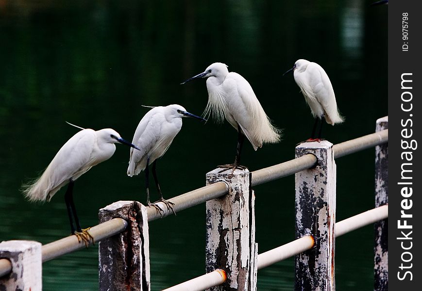
[[[0,278],[1,291],[42,291],[40,242],[1,242],[0,258],[7,258],[12,264],[12,273]]]

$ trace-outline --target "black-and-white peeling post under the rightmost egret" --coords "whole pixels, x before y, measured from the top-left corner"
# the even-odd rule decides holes
[[[295,256],[295,290],[335,290],[334,226],[336,223],[336,162],[328,141],[296,146],[296,158],[317,157],[317,165],[295,174],[296,238],[312,235],[315,246]]]

